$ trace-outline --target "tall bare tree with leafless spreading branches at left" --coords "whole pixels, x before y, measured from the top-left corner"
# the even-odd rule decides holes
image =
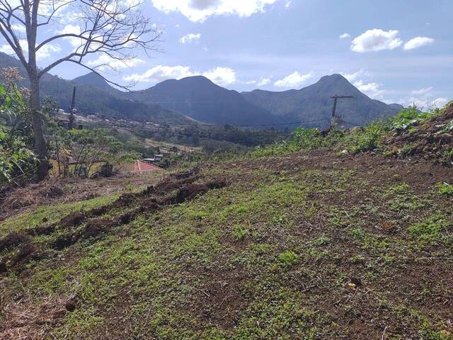
[[[30,79],[35,148],[41,161],[39,179],[45,178],[48,171],[47,146],[40,116],[41,77],[62,62],[79,64],[103,77],[99,72],[112,67],[112,62],[127,64],[134,60],[137,48],[147,54],[158,50],[154,43],[159,40],[161,32],[142,15],[140,3],[131,1],[134,0],[0,0],[0,33]],[[74,23],[69,26],[70,30],[56,30],[57,33],[49,35],[49,26],[55,28],[62,19],[68,21],[68,18]],[[21,37],[21,32],[25,32],[26,40]],[[39,69],[37,55],[46,49],[52,50],[52,43],[57,40],[71,42],[74,49]],[[87,60],[87,57],[99,54],[104,57],[98,58],[98,63]]]

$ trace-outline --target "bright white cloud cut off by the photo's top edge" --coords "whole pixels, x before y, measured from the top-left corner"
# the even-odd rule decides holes
[[[190,21],[205,21],[210,16],[236,14],[251,16],[264,12],[265,6],[277,0],[151,0],[159,11],[178,11]]]

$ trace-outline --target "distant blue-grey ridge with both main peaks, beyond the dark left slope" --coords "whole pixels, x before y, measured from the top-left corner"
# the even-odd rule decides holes
[[[362,125],[377,118],[396,115],[403,108],[398,104],[387,105],[372,100],[340,74],[323,77],[316,84],[301,90],[255,90],[242,94],[217,86],[205,77],[166,80],[144,91],[129,94],[113,89],[95,74],[87,74],[74,81],[98,86],[134,101],[158,103],[195,120],[220,125],[282,124],[314,120],[304,126],[327,128],[333,106],[330,97],[335,94],[355,97],[338,102],[338,113],[352,123],[349,125]]]

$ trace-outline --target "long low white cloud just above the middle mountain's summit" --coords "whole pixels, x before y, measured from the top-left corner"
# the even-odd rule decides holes
[[[188,66],[181,65],[158,65],[148,69],[143,74],[130,74],[129,76],[123,77],[123,79],[134,82],[144,81],[156,83],[166,79],[182,79],[200,75],[220,86],[226,86],[236,82],[236,72],[234,72],[234,69],[229,69],[228,67],[216,67],[206,72],[196,72],[192,71]]]

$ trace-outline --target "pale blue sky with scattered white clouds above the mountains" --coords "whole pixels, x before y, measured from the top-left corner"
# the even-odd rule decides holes
[[[105,77],[134,89],[201,74],[236,91],[285,91],[340,73],[386,103],[431,108],[453,99],[452,0],[144,0],[140,10],[162,30],[161,52],[137,51],[127,65],[89,60],[107,62]],[[74,26],[66,16],[52,33]],[[55,40],[38,64],[71,46]],[[8,52],[4,40],[0,51]],[[69,63],[51,73],[86,72]]]

